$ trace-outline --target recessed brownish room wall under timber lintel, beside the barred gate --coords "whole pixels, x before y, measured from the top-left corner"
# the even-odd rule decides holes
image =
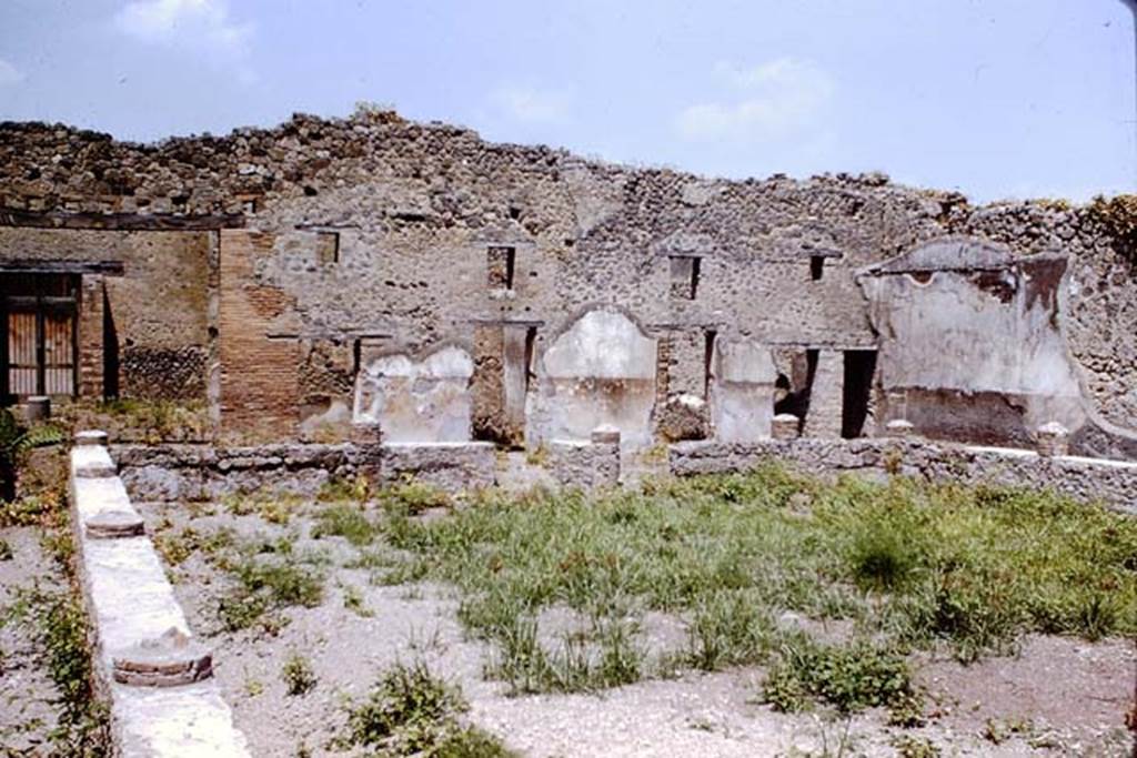
[[[208,232],[109,232],[0,226],[5,260],[121,261],[122,276],[84,276],[84,394],[101,393],[101,300],[119,343],[119,394],[204,400],[208,356]],[[100,332],[100,335],[93,334]],[[98,381],[96,380],[98,374]]]

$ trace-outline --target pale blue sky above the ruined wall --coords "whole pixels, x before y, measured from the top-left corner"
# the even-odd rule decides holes
[[[1135,191],[1120,0],[0,0],[0,119],[150,141],[358,101],[731,177]]]

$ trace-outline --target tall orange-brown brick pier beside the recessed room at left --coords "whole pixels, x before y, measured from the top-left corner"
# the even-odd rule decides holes
[[[272,333],[294,303],[254,273],[272,245],[268,234],[221,233],[221,425],[227,436],[291,436],[299,420],[299,341]]]

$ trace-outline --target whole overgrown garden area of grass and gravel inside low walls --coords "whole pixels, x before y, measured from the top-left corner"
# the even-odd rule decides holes
[[[136,503],[258,756],[1122,756],[1137,522],[775,464]]]

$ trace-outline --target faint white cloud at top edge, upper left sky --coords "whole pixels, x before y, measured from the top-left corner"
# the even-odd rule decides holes
[[[115,15],[115,26],[149,44],[201,55],[246,83],[255,78],[248,65],[252,26],[234,22],[226,0],[135,0]]]

